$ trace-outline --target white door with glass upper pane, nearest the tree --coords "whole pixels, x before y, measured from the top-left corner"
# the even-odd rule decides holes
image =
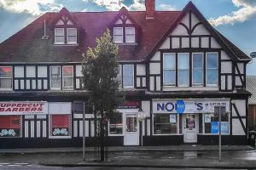
[[[137,114],[125,114],[124,145],[139,145]]]

